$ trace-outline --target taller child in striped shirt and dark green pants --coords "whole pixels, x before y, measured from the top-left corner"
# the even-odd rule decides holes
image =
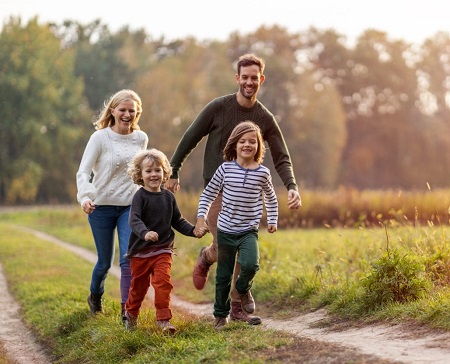
[[[225,162],[214,173],[200,196],[196,229],[206,229],[205,216],[220,191],[222,209],[217,223],[218,260],[214,327],[221,330],[232,320],[258,325],[261,318],[250,316],[242,306],[248,303],[249,291],[259,269],[258,229],[267,211],[267,230],[277,230],[278,202],[268,168],[261,165],[265,146],[259,127],[251,121],[238,124],[224,149]],[[241,266],[236,281],[241,302],[230,305],[230,288],[235,260]],[[231,309],[231,313],[230,313]]]

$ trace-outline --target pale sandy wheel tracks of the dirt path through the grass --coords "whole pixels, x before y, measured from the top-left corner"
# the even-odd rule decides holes
[[[96,254],[70,245],[64,241],[56,239],[53,236],[23,227],[40,239],[63,246],[74,252],[83,259],[95,263]],[[0,266],[1,268],[1,266]],[[114,266],[111,274],[120,277],[120,270]],[[23,325],[19,317],[19,307],[10,297],[6,282],[0,269],[0,293],[3,303],[2,307],[8,307],[7,310],[0,310],[0,342],[3,342],[7,353],[12,354],[19,364],[41,364],[50,363],[45,357],[45,351],[39,347],[29,330]],[[151,294],[152,292],[149,291]],[[191,312],[197,316],[211,316],[212,304],[196,305],[182,301],[179,297],[172,295],[172,305],[184,311]],[[314,351],[328,350],[329,360],[316,361],[317,363],[339,363],[336,361],[338,352],[347,350],[348,353],[355,355],[366,355],[366,359],[360,363],[413,363],[413,364],[447,364],[450,363],[450,333],[437,333],[435,331],[420,331],[417,328],[412,330],[406,325],[371,325],[363,327],[348,327],[342,324],[324,325],[327,322],[325,311],[302,315],[288,321],[263,319],[263,327],[286,331],[296,335],[301,340],[313,340],[313,343],[303,343],[309,345]],[[318,349],[318,347],[321,349]],[[304,348],[303,348],[304,350]],[[335,355],[334,360],[333,353]],[[18,354],[23,354],[18,357]],[[29,357],[26,357],[26,356]],[[351,354],[350,354],[351,355]],[[372,358],[372,359],[370,359]],[[375,358],[375,359],[374,359]],[[377,360],[378,358],[379,360]],[[348,359],[348,357],[347,357]],[[286,362],[294,362],[287,360]],[[306,361],[304,361],[306,362]],[[308,361],[313,363],[314,361]],[[349,362],[345,360],[345,362]]]

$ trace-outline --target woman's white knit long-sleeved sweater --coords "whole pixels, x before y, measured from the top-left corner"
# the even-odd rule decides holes
[[[131,205],[137,186],[127,173],[128,163],[142,149],[148,136],[141,130],[117,134],[111,128],[95,131],[84,150],[77,172],[77,200],[96,205]],[[91,173],[94,173],[92,182]]]

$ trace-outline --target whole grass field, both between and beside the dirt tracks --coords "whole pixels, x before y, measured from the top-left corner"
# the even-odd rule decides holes
[[[292,339],[279,332],[211,322],[175,312],[176,340],[154,333],[154,311],[128,333],[119,322],[118,282],[107,280],[105,315],[91,319],[85,302],[92,266],[21,231],[28,226],[94,251],[79,206],[0,214],[0,261],[26,321],[53,348],[58,363],[257,363]],[[260,233],[261,269],[252,292],[258,313],[289,317],[326,307],[342,318],[415,320],[450,330],[450,249],[444,226],[377,229],[292,229]],[[212,302],[214,274],[203,291],[192,268],[207,235],[177,235],[174,293]],[[245,338],[245,339],[243,339]],[[239,360],[238,360],[239,359]]]

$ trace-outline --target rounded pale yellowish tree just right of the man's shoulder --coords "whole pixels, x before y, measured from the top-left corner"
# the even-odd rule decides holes
[[[347,127],[342,100],[332,84],[315,81],[310,72],[299,79],[295,92],[301,98],[290,124],[291,154],[295,156],[305,186],[336,187]]]

